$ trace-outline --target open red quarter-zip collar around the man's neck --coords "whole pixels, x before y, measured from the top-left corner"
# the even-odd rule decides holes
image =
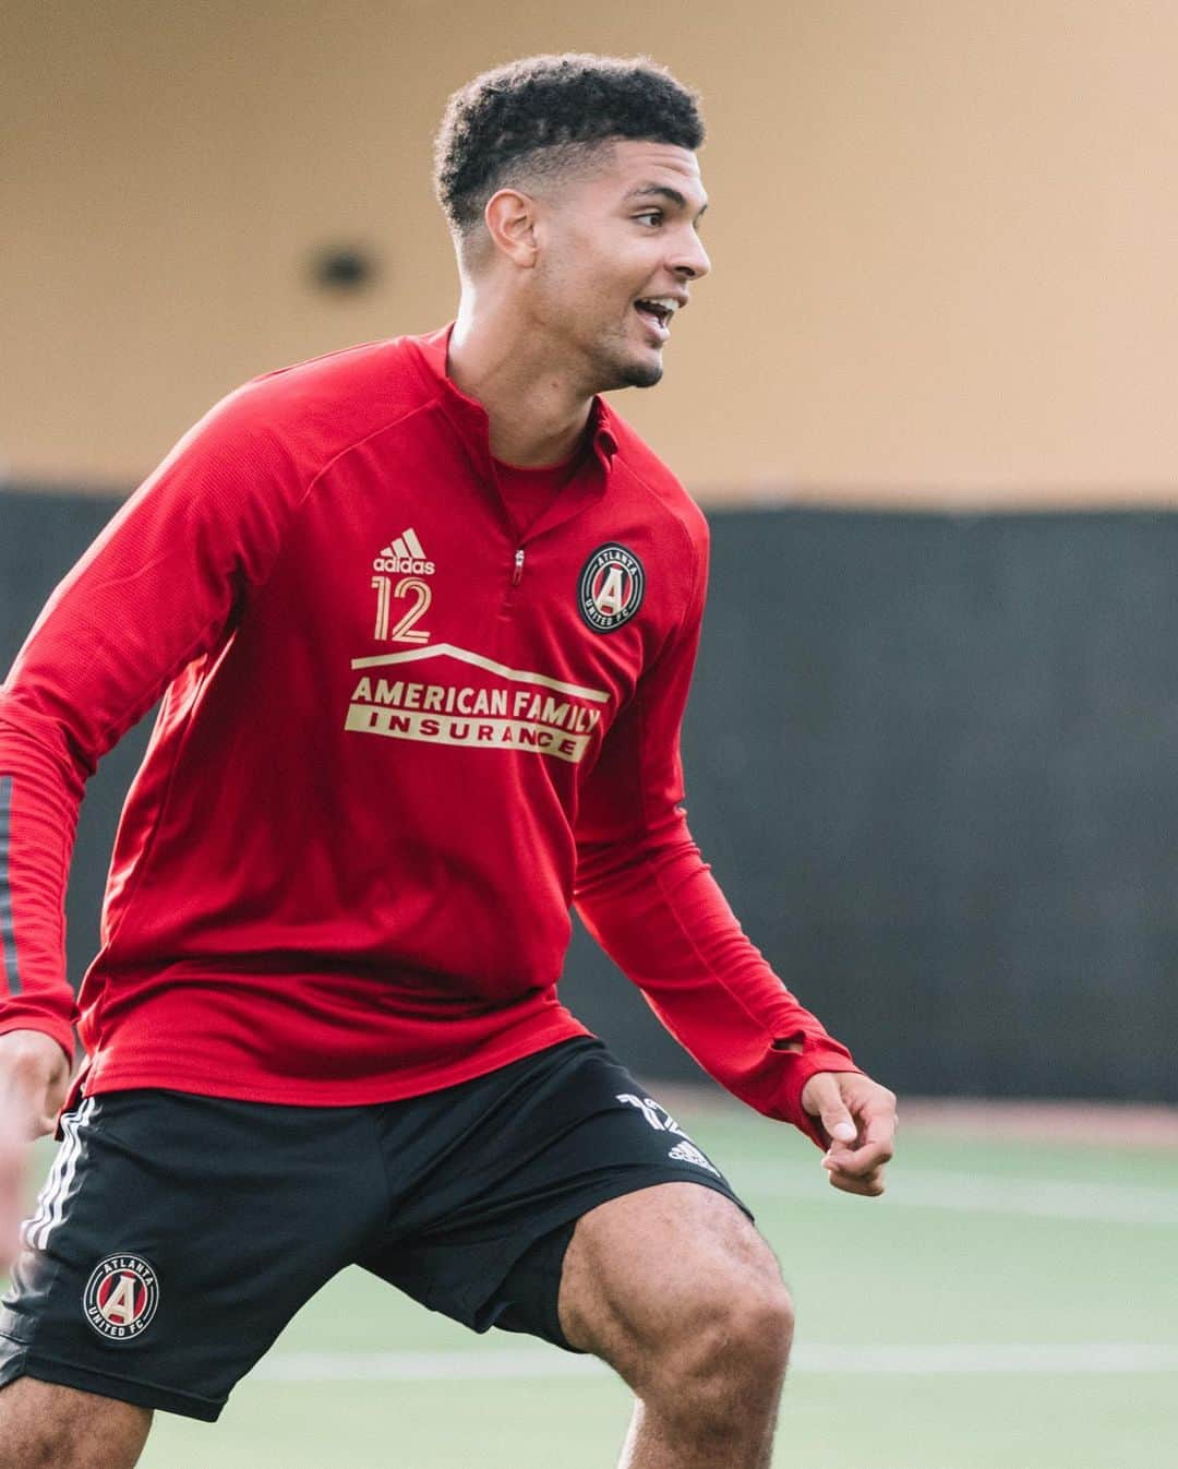
[[[447,354],[452,331],[454,322],[426,336],[410,338],[410,341],[417,348],[417,358],[423,375],[438,395],[438,405],[458,435],[474,472],[494,488],[496,498],[502,504],[495,461],[491,455],[491,420],[488,419],[486,408],[477,398],[467,397],[447,373]],[[593,454],[592,457],[585,455],[585,469],[570,479],[552,505],[530,527],[526,539],[530,539],[541,530],[551,530],[561,521],[571,519],[592,499],[598,499],[605,494],[613,472],[614,455],[618,451],[618,438],[613,425],[614,419],[610,408],[599,397],[595,397],[588,425],[588,432],[592,435]],[[505,504],[504,511],[507,511]]]

